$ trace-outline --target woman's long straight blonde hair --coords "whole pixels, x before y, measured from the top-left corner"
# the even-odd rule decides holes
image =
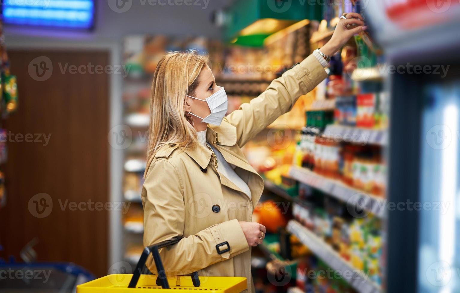
[[[155,69],[150,96],[149,144],[147,167],[162,146],[196,146],[196,130],[184,112],[185,95],[194,96],[201,69],[209,58],[197,51],[168,52]]]

